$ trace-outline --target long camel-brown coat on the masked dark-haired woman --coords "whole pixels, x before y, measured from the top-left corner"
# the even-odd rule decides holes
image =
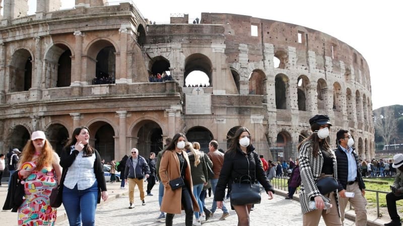
[[[200,211],[197,201],[193,195],[193,185],[192,177],[190,174],[189,158],[186,152],[182,151],[182,155],[187,162],[187,167],[185,169],[185,184],[190,188],[190,195],[193,202],[193,210]],[[164,184],[164,196],[162,197],[161,211],[166,213],[180,214],[181,210],[184,209],[181,203],[182,189],[172,190],[169,186],[169,179],[175,179],[180,176],[179,169],[179,159],[175,151],[166,150],[162,155],[159,174],[161,181]]]

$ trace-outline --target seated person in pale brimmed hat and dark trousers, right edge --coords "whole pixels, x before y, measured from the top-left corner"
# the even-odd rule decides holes
[[[385,223],[385,226],[400,226],[400,216],[397,213],[396,201],[403,199],[403,154],[393,156],[392,167],[396,169],[396,177],[394,178],[392,191],[386,194],[386,206],[391,221]]]

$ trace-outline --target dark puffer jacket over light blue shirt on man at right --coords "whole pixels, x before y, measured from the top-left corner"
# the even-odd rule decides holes
[[[348,166],[348,159],[347,154],[342,150],[340,145],[337,149],[334,149],[334,155],[337,159],[337,175],[338,175],[338,182],[339,182],[339,191],[346,189],[347,187],[347,179],[349,176],[349,166]],[[358,185],[360,189],[365,189],[365,184],[361,176],[361,168],[358,163],[358,156],[355,150],[353,150],[354,158],[356,159],[357,164],[357,179]]]

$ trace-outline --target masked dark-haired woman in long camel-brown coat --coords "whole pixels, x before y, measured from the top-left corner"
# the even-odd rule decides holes
[[[199,211],[197,201],[193,196],[193,185],[190,174],[190,164],[184,151],[186,137],[184,134],[176,134],[168,145],[160,163],[159,174],[164,184],[164,196],[162,197],[161,211],[166,212],[165,225],[172,225],[175,213],[180,214],[184,209],[186,213],[185,225],[193,223],[193,211]],[[169,181],[182,177],[185,185],[172,190]]]

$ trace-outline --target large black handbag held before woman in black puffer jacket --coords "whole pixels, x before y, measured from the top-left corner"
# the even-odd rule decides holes
[[[246,179],[243,179],[246,177]],[[231,205],[246,205],[260,203],[260,185],[252,183],[249,175],[243,175],[239,182],[233,183],[230,193]]]

